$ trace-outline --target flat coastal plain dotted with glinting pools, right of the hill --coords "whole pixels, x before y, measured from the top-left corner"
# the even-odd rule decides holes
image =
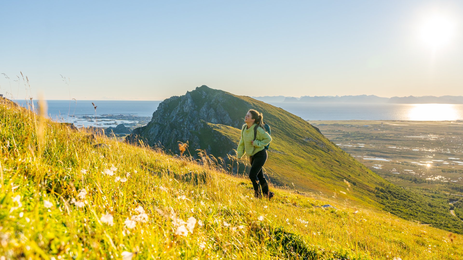
[[[463,183],[461,120],[310,123],[372,171],[396,184],[432,187],[440,183]]]

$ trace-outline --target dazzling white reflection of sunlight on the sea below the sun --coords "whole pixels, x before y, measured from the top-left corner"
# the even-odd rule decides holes
[[[457,120],[457,111],[453,104],[414,104],[408,111],[408,120]]]

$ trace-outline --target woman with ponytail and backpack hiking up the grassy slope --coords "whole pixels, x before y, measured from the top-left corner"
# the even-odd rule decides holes
[[[248,111],[244,117],[244,124],[241,128],[241,140],[238,144],[238,159],[241,159],[244,154],[249,155],[251,169],[249,171],[249,179],[251,179],[254,187],[254,196],[261,198],[259,192],[259,184],[262,188],[262,193],[267,198],[272,198],[274,193],[269,191],[267,180],[263,176],[262,167],[267,161],[267,150],[264,146],[272,141],[272,137],[263,128],[263,116],[254,109]],[[257,183],[259,179],[259,183]]]

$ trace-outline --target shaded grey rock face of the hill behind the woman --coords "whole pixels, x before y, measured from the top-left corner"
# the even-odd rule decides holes
[[[153,113],[150,123],[134,129],[125,140],[138,142],[138,139],[141,139],[150,146],[163,147],[166,151],[171,150],[173,153],[179,152],[178,141],[188,141],[192,154],[195,149],[208,149],[209,154],[213,152],[210,145],[200,146],[200,135],[210,131],[206,122],[240,129],[244,124],[244,110],[249,106],[241,104],[244,107],[239,107],[240,102],[230,93],[207,86],[197,87],[181,97],[173,96],[165,99]],[[238,110],[243,111],[242,117],[237,116]],[[230,142],[225,139],[216,141]],[[234,144],[228,145],[228,149],[233,146]],[[231,151],[225,151],[225,153],[228,152]],[[219,156],[225,156],[224,151],[219,152]]]

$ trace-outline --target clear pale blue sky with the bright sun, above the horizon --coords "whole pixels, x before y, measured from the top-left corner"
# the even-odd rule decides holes
[[[0,93],[162,100],[207,85],[248,96],[462,95],[462,17],[462,1],[442,0],[7,0],[0,73],[10,80],[0,75]]]

